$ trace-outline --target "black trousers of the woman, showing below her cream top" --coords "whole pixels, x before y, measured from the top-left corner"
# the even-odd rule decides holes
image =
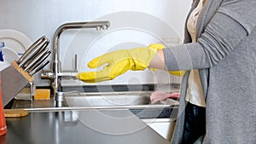
[[[190,144],[206,134],[206,108],[188,102],[185,111],[183,144]]]

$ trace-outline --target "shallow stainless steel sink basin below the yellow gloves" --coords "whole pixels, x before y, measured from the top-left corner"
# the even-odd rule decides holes
[[[84,95],[65,95],[69,107],[170,107],[178,101],[168,99],[154,105],[150,102],[151,92],[108,92]]]

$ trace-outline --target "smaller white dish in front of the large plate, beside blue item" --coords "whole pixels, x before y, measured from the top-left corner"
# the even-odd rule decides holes
[[[10,49],[8,47],[2,48],[3,51],[3,60],[9,63],[12,63],[14,60],[19,59],[19,55],[15,52],[14,49]]]

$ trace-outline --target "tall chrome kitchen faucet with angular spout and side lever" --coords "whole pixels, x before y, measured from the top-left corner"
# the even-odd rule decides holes
[[[61,33],[68,29],[84,29],[84,28],[96,28],[99,30],[107,30],[110,26],[109,21],[90,21],[90,22],[73,22],[66,23],[57,28],[53,39],[53,60],[52,71],[42,71],[42,79],[50,79],[51,87],[53,88],[55,96],[55,106],[61,107],[64,101],[64,93],[61,90],[61,78],[69,77],[75,78],[77,74],[77,55],[75,55],[75,70],[70,72],[61,72],[61,60],[60,60],[60,37]]]

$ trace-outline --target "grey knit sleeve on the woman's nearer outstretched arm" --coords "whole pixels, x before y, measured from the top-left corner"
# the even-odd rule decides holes
[[[255,0],[224,0],[196,43],[164,49],[166,70],[202,69],[217,65],[253,31],[255,6]]]

